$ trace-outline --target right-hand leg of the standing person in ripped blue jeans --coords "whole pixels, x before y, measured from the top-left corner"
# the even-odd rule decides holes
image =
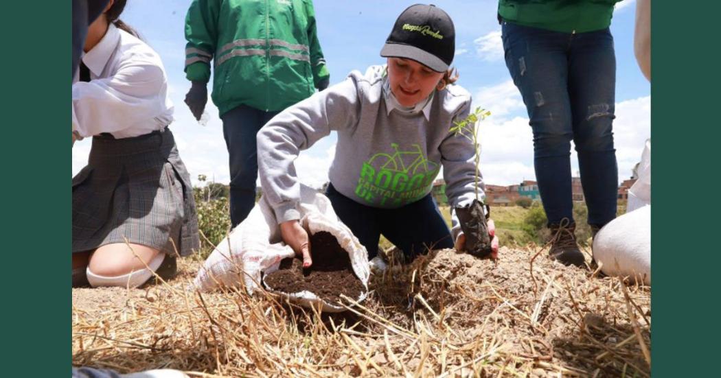
[[[616,57],[608,29],[576,37],[569,53],[568,88],[588,224],[601,228],[616,217],[619,180],[612,130]]]

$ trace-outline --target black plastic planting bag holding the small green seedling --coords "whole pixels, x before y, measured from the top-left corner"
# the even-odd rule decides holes
[[[467,206],[455,208],[461,230],[466,235],[466,251],[480,258],[489,257],[492,252],[484,207],[484,204],[474,199]]]

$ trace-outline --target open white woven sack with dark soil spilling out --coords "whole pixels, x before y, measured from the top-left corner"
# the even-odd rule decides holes
[[[298,210],[301,212],[301,225],[311,235],[326,231],[335,236],[340,246],[348,251],[353,272],[361,279],[367,291],[370,275],[368,251],[350,232],[348,226],[340,222],[330,200],[315,189],[301,185],[301,204]],[[311,250],[311,256],[312,253]],[[278,270],[280,261],[288,257],[293,257],[293,250],[281,241],[280,228],[273,209],[261,198],[246,220],[218,243],[218,247],[198,271],[194,284],[201,291],[210,291],[221,285],[239,287],[242,279],[248,293],[252,294],[258,289],[261,273],[270,274]],[[320,307],[322,311],[345,310],[345,307],[330,305],[320,300],[311,292],[280,294],[301,305]],[[363,292],[361,297],[353,299],[360,302],[365,298],[366,293]]]

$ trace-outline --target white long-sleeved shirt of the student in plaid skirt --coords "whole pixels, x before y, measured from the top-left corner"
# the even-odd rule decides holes
[[[76,75],[73,83],[73,129],[81,137],[110,132],[131,138],[172,122],[163,63],[145,42],[110,24],[82,60],[91,81]]]

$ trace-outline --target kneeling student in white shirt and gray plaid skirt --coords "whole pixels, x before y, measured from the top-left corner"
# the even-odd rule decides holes
[[[110,1],[89,27],[73,84],[73,142],[92,136],[73,178],[73,285],[138,287],[200,246],[193,188],[172,132],[159,56]],[[86,282],[87,279],[87,282]]]

